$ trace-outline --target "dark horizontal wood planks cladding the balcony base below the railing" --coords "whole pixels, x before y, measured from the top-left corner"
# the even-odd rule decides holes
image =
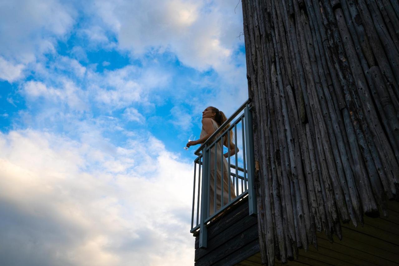
[[[195,266],[234,265],[259,252],[257,218],[244,198],[208,225],[207,248],[195,242]]]

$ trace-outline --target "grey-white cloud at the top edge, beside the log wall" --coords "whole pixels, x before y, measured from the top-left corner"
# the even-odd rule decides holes
[[[135,56],[152,48],[169,49],[190,67],[219,71],[233,64],[233,50],[243,44],[236,38],[243,31],[242,16],[234,13],[231,1],[173,0],[154,5],[103,0],[94,8],[116,32],[119,47]]]

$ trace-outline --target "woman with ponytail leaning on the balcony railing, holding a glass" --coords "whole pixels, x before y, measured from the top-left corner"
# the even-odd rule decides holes
[[[202,112],[202,130],[199,139],[196,141],[189,141],[187,143],[187,147],[192,145],[202,144],[204,143],[212,134],[215,132],[225,121],[227,120],[225,114],[219,109],[209,106]],[[229,125],[226,126],[229,127]],[[211,142],[217,139],[224,130],[222,130],[219,134],[217,134]],[[228,147],[230,144],[230,150],[227,153],[223,154],[223,164],[221,153],[223,153],[223,145],[221,143],[222,140],[217,141],[216,143],[216,151],[215,146],[211,148],[209,151],[209,167],[210,167],[210,178],[209,178],[209,215],[212,215],[215,210],[215,156],[216,156],[216,210],[221,208],[221,191],[222,191],[222,172],[223,172],[223,206],[226,205],[229,201],[235,199],[234,193],[234,185],[229,176],[229,164],[227,163],[226,158],[228,156],[235,155],[235,145],[233,141],[233,134],[230,133],[230,139],[227,139],[227,134],[223,137],[223,145]],[[210,142],[210,143],[211,143]],[[229,143],[230,142],[230,143]],[[237,148],[238,152],[238,148]],[[217,154],[216,154],[217,153]],[[222,170],[223,165],[223,170]],[[230,183],[230,199],[229,199],[229,183]]]

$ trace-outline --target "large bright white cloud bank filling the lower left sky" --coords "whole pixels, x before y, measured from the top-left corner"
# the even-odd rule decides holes
[[[130,144],[110,155],[40,131],[1,134],[1,261],[193,265],[192,165],[152,137]]]

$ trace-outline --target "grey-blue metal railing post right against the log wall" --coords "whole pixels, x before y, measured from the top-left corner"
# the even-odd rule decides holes
[[[244,109],[245,123],[245,144],[247,145],[247,168],[248,168],[248,204],[249,215],[256,215],[256,191],[255,191],[255,158],[253,153],[253,128],[252,128],[252,111],[249,105]]]

